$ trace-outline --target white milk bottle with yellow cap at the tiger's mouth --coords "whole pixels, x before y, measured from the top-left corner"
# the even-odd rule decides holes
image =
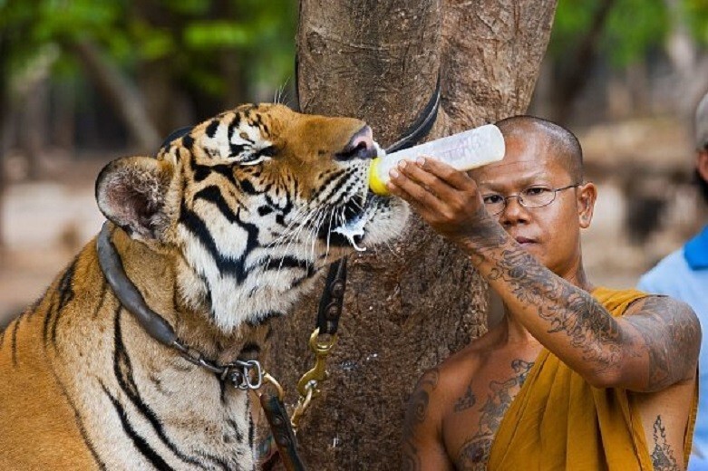
[[[458,170],[471,170],[504,158],[504,137],[493,124],[466,130],[373,159],[369,167],[369,187],[377,195],[390,195],[388,172],[402,159],[418,157],[440,160]]]

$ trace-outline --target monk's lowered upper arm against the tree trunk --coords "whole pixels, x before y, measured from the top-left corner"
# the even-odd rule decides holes
[[[435,390],[440,371],[432,369],[421,380],[408,399],[403,422],[402,466],[405,471],[452,469],[442,444],[442,420]]]

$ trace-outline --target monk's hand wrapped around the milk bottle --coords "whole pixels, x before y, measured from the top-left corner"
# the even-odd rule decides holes
[[[489,218],[477,183],[435,159],[402,160],[390,172],[389,191],[406,200],[435,231],[461,242]]]

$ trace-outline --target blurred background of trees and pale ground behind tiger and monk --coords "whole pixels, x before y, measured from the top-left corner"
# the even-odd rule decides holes
[[[0,0],[0,327],[94,235],[108,161],[248,101],[294,97],[296,0]],[[580,139],[599,187],[596,284],[633,286],[708,214],[693,111],[708,0],[559,0],[530,114]],[[375,132],[375,130],[374,130]]]

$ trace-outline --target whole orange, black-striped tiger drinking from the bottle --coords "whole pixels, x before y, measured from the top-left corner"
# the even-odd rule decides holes
[[[223,365],[325,265],[400,234],[408,207],[367,185],[382,153],[362,120],[246,104],[108,163],[95,197],[144,303]],[[255,469],[251,395],[146,332],[96,244],[0,332],[0,469]]]

